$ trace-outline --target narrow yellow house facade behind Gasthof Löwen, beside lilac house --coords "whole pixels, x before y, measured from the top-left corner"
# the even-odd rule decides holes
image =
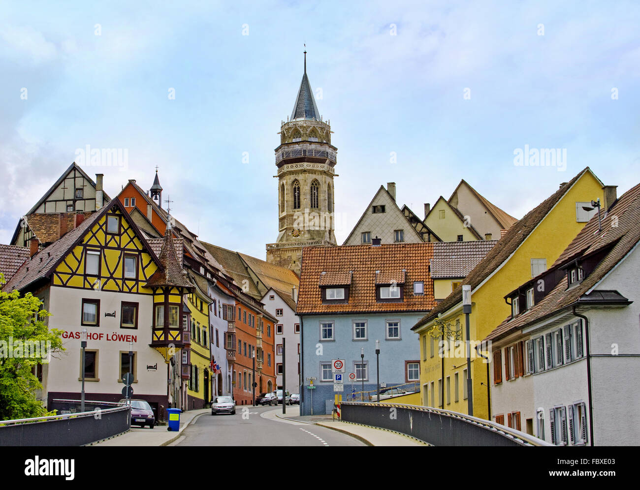
[[[209,305],[213,300],[196,285],[188,295],[187,306],[191,319],[191,372],[188,386],[188,409],[204,408],[211,401],[211,338],[209,329]]]

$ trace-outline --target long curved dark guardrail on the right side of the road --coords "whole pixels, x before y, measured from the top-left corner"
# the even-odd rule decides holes
[[[342,420],[389,429],[434,446],[551,446],[524,432],[463,413],[392,403],[342,402]]]

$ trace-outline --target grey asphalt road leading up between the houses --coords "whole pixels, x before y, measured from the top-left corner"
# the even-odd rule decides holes
[[[358,439],[275,416],[282,407],[237,407],[236,415],[200,415],[172,446],[365,446]]]

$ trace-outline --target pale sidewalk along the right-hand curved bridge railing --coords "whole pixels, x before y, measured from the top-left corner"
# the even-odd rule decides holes
[[[343,432],[349,436],[364,442],[368,446],[428,446],[428,444],[418,441],[417,439],[404,436],[398,432],[387,431],[387,429],[378,429],[369,425],[360,425],[359,423],[342,422],[342,420],[333,420],[331,415],[303,415],[300,416],[300,406],[287,407],[287,413],[276,413],[278,418],[291,420],[292,422],[310,423],[320,425],[333,431]]]

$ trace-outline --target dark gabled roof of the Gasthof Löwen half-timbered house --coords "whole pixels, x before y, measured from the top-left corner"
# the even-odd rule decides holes
[[[67,257],[68,253],[79,244],[84,235],[90,230],[90,228],[99,221],[109,210],[117,207],[123,216],[128,217],[127,211],[118,198],[113,198],[106,206],[102,207],[99,211],[93,213],[90,217],[85,219],[77,228],[74,228],[66,235],[64,235],[58,241],[53,242],[47,248],[40,250],[27,260],[22,267],[13,275],[10,281],[4,285],[4,291],[12,291],[14,289],[22,290],[36,281],[49,278],[53,271],[58,267],[58,264]],[[126,219],[126,218],[125,218]],[[158,257],[151,249],[140,228],[132,220],[129,220],[129,224],[133,228],[136,235],[140,239],[143,247],[147,250],[151,258],[160,265]]]

